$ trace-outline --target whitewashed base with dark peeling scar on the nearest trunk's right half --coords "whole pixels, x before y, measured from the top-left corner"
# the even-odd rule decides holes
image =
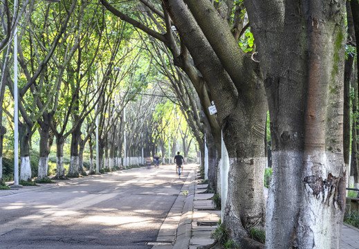
[[[338,154],[324,151],[317,151],[315,157],[320,158],[319,165],[317,160],[313,160],[313,156],[304,158],[305,169],[318,167],[320,170],[315,176],[312,172],[304,172],[303,204],[298,220],[298,239],[294,246],[315,248],[320,245],[320,248],[340,248],[342,226],[331,223],[341,222],[343,218],[344,202],[337,199],[338,184],[340,185],[340,177],[337,176],[345,174],[344,162]],[[335,169],[338,172],[335,172]]]

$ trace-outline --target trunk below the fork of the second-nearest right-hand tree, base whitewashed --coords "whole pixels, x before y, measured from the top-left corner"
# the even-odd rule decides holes
[[[264,89],[257,89],[257,93],[253,92],[253,96],[260,95],[261,91]],[[256,100],[241,104],[245,109],[229,116],[225,120],[226,129],[223,129],[223,140],[230,163],[223,219],[225,227],[243,248],[248,248],[248,240],[243,238],[250,237],[250,230],[252,228],[264,230],[266,225],[264,199],[266,156],[263,140],[267,105],[264,98]],[[250,103],[256,104],[250,106]],[[241,116],[243,113],[247,113],[247,116]]]

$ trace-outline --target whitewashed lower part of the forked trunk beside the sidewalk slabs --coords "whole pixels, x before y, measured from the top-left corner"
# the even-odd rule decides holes
[[[265,160],[266,157],[229,158],[228,194],[223,222],[227,227],[238,228],[232,231],[234,237],[248,237],[248,232],[252,228],[264,229],[266,220],[266,201],[263,190]],[[263,167],[255,167],[255,165],[263,165]],[[239,189],[238,183],[246,188]],[[242,216],[237,216],[237,214]]]

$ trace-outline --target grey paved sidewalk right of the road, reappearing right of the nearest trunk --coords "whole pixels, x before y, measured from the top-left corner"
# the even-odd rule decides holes
[[[214,242],[214,239],[211,239],[210,235],[217,228],[217,222],[221,217],[221,210],[215,210],[214,204],[212,203],[213,194],[203,193],[208,185],[202,184],[202,180],[199,179],[199,176],[195,178],[194,174],[196,174],[196,170],[191,172],[190,176],[187,177],[185,185],[183,185],[183,190],[188,190],[189,192],[184,200],[185,205],[178,223],[177,232],[174,232],[176,234],[175,238],[172,237],[174,240],[167,241],[167,243],[160,243],[160,241],[158,241],[158,245],[152,249],[197,249],[208,246]],[[183,201],[183,196],[180,196],[179,199]],[[160,234],[163,232],[164,231],[160,231]],[[160,234],[158,235],[159,238]],[[343,223],[341,248],[359,249],[358,228]]]

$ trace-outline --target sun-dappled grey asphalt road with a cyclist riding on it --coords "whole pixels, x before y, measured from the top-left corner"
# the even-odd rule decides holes
[[[151,248],[188,171],[146,167],[0,197],[0,248]]]

